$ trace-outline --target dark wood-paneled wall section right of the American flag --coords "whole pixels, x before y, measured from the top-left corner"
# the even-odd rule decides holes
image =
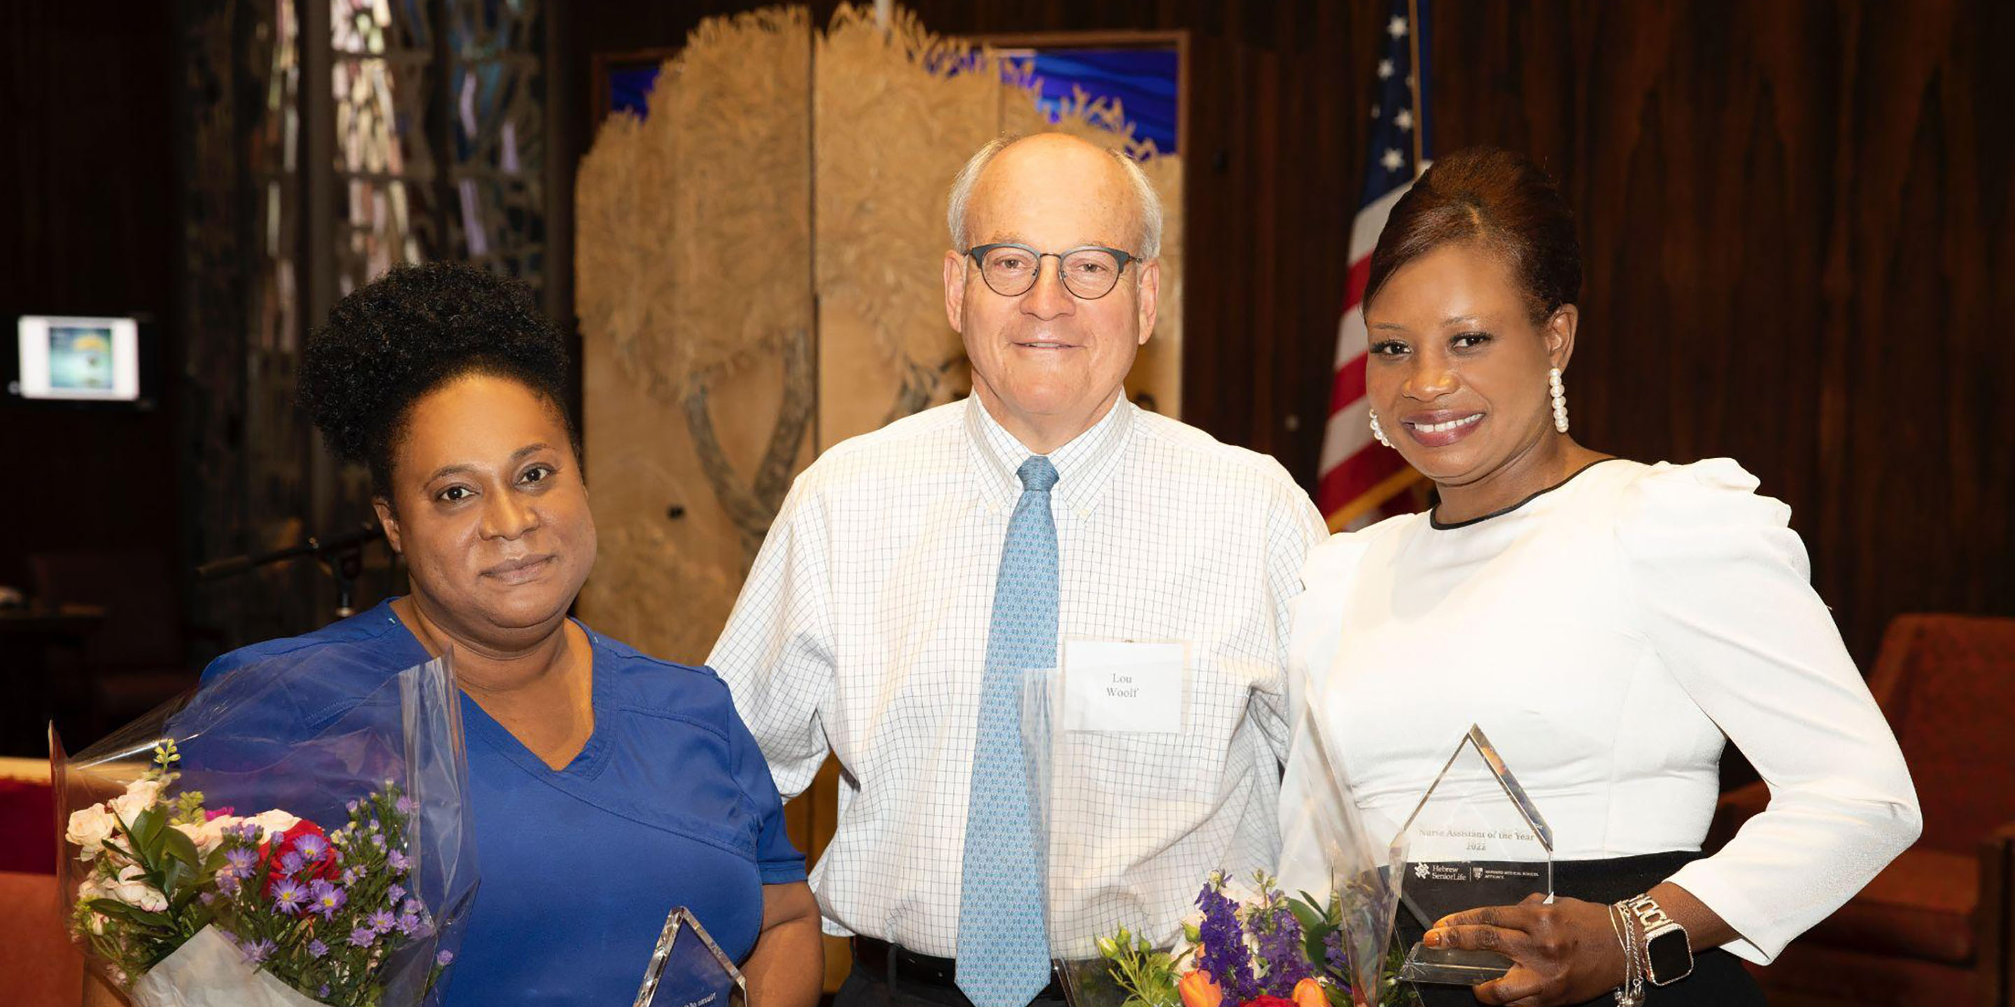
[[[1898,612],[2015,612],[2015,6],[1443,14],[1441,149],[1582,215],[1586,443],[1743,461],[1864,667]]]

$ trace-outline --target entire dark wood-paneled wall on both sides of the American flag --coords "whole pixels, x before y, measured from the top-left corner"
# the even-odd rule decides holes
[[[584,127],[588,52],[744,6],[568,6],[556,101]],[[1384,4],[911,6],[941,32],[1193,32],[1183,413],[1312,481]],[[1580,211],[1576,433],[1743,461],[1864,665],[1896,612],[2015,612],[2009,42],[1995,0],[1435,6],[1437,149],[1525,151]]]

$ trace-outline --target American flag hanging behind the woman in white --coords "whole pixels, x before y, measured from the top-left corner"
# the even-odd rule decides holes
[[[1330,385],[1330,423],[1322,433],[1322,463],[1316,475],[1316,506],[1332,532],[1362,528],[1382,510],[1404,501],[1421,475],[1398,451],[1372,439],[1370,407],[1364,401],[1364,280],[1370,276],[1372,248],[1384,230],[1392,203],[1425,169],[1427,123],[1427,2],[1392,0],[1384,22],[1384,54],[1378,58],[1372,91],[1372,129],[1364,199],[1350,224],[1350,294],[1336,330],[1336,375]]]

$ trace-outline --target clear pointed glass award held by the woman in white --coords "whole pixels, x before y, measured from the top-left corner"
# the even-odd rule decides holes
[[[1531,894],[1554,900],[1554,830],[1475,725],[1392,838],[1392,862],[1400,866],[1400,902],[1423,928],[1451,912],[1513,906]],[[1415,943],[1400,979],[1467,987],[1507,971],[1511,959],[1493,951]]]

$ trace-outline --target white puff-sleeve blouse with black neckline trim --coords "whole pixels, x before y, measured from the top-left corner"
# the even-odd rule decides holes
[[[1769,808],[1670,880],[1767,963],[1922,820],[1789,508],[1731,459],[1600,461],[1455,526],[1394,518],[1304,566],[1296,745],[1320,719],[1374,844],[1483,727],[1554,828],[1556,860],[1699,850],[1733,741]],[[1286,856],[1310,842],[1290,759]],[[1304,850],[1306,852],[1306,850]]]

